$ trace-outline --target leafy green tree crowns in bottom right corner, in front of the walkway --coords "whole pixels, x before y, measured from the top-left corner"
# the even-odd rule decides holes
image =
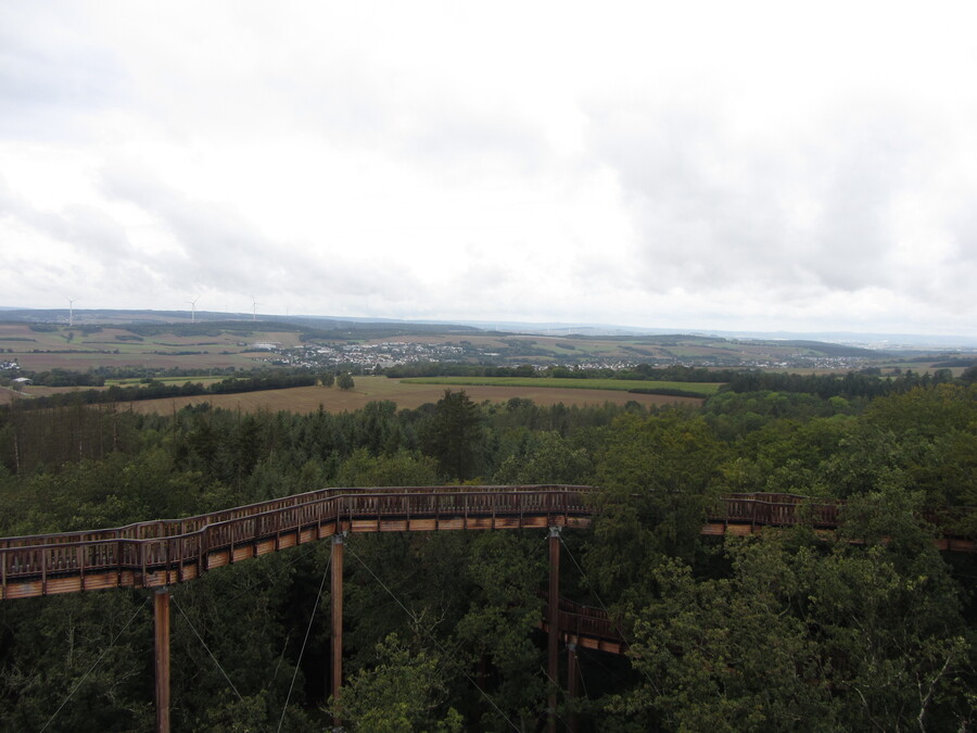
[[[659,597],[635,612],[644,682],[610,710],[668,730],[954,728],[974,646],[931,547],[925,576],[881,545],[776,539],[731,541],[729,578],[663,563]]]

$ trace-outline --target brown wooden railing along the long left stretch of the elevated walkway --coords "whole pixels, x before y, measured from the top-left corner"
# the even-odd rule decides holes
[[[41,581],[42,592],[51,578],[65,576],[131,573],[118,584],[153,585],[148,576],[160,570],[195,565],[199,574],[207,568],[208,555],[254,546],[283,534],[329,526],[350,529],[363,520],[444,520],[508,518],[515,526],[528,519],[566,523],[568,517],[588,517],[593,509],[587,486],[440,486],[392,489],[327,489],[272,500],[224,511],[175,520],[139,522],[114,529],[5,538],[0,540],[2,597],[8,587],[26,580]],[[294,543],[292,543],[294,544]],[[180,580],[178,578],[177,580]],[[84,590],[72,586],[68,590]],[[31,593],[34,595],[34,593]]]

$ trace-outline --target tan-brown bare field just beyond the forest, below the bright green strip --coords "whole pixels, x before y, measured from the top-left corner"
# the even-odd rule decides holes
[[[139,413],[170,413],[187,405],[210,402],[215,407],[254,412],[259,409],[312,413],[322,406],[330,413],[352,412],[368,402],[390,400],[402,408],[416,408],[429,402],[437,402],[444,396],[445,384],[408,383],[407,380],[386,377],[356,377],[356,387],[350,391],[323,387],[296,387],[288,390],[267,390],[242,394],[208,394],[192,397],[143,400],[127,406]],[[531,380],[543,381],[543,380]],[[563,382],[573,380],[562,380]],[[645,382],[647,384],[647,382]],[[685,404],[699,405],[697,397],[673,397],[659,394],[631,394],[621,390],[572,389],[553,387],[519,386],[465,386],[466,394],[474,402],[506,402],[510,397],[532,400],[537,405],[602,405],[610,402],[623,405],[636,402],[640,405]]]

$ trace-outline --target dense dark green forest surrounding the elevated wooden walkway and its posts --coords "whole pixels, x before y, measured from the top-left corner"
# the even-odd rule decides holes
[[[0,410],[0,535],[177,518],[323,486],[574,483],[563,595],[626,656],[581,649],[585,731],[972,730],[977,384],[744,377],[699,408],[377,402],[343,414]],[[807,390],[807,391],[804,391]],[[841,528],[703,536],[734,492],[845,501]],[[942,516],[939,526],[932,518]],[[178,731],[536,731],[546,532],[346,539],[345,680],[330,700],[329,543],[173,591]],[[151,731],[151,593],[0,602],[0,729]],[[561,672],[561,680],[562,680]],[[572,710],[571,710],[572,707]],[[562,730],[562,729],[558,729]]]

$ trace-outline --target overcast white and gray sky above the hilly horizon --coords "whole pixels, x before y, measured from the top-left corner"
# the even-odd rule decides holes
[[[977,336],[972,5],[0,0],[0,305]]]

